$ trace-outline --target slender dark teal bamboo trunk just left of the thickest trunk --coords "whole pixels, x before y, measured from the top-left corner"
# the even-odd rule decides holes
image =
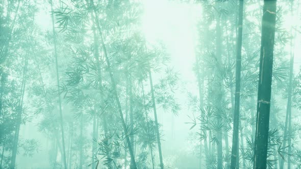
[[[234,122],[233,122],[233,140],[231,153],[231,168],[236,168],[236,159],[238,157],[237,149],[239,134],[239,104],[240,104],[240,71],[241,71],[241,46],[242,46],[242,18],[243,18],[243,1],[239,1],[238,14],[238,38],[236,51],[236,77],[235,77],[235,105],[234,105]]]

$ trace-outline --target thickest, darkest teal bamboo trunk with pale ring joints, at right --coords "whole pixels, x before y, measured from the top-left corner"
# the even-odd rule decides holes
[[[264,1],[258,85],[254,168],[266,168],[276,1]]]

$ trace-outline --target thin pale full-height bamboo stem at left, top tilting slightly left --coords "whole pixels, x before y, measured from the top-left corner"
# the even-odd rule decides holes
[[[51,11],[53,10],[53,3],[52,0],[50,1],[51,4]],[[65,135],[64,135],[64,122],[63,122],[63,113],[62,113],[62,101],[61,101],[61,93],[60,93],[60,76],[59,76],[59,66],[58,66],[58,52],[57,52],[57,34],[55,30],[55,21],[54,15],[51,15],[52,19],[52,29],[53,29],[53,37],[54,37],[54,55],[56,59],[56,72],[57,72],[57,86],[58,86],[58,101],[59,101],[59,112],[60,112],[60,127],[61,127],[61,134],[62,134],[62,148],[63,148],[63,163],[64,168],[67,169],[67,162],[66,162],[66,151],[65,151]]]

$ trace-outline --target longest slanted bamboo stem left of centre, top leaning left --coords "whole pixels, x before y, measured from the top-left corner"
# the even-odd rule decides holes
[[[93,9],[94,14],[95,14],[94,21],[96,23],[99,36],[101,37],[101,44],[103,46],[104,55],[105,55],[106,63],[107,63],[107,66],[108,66],[107,69],[108,69],[109,74],[110,74],[112,87],[113,87],[113,92],[114,92],[115,99],[116,99],[116,102],[117,102],[119,117],[120,117],[120,120],[121,120],[123,131],[126,134],[126,142],[128,144],[127,147],[129,149],[129,152],[130,152],[130,155],[131,155],[131,169],[136,169],[137,165],[136,165],[136,161],[135,161],[135,156],[134,156],[131,140],[130,140],[130,137],[129,137],[129,131],[128,131],[128,128],[126,126],[126,123],[124,122],[123,113],[122,113],[122,109],[121,109],[121,104],[120,104],[119,96],[118,96],[118,93],[117,93],[116,82],[115,82],[113,72],[112,72],[112,69],[111,69],[111,64],[110,64],[109,56],[108,56],[108,53],[107,53],[107,48],[106,48],[106,45],[105,45],[105,41],[104,41],[104,38],[103,38],[102,29],[101,29],[101,26],[99,25],[98,15],[97,15],[96,8],[94,6],[93,0],[91,0],[90,3],[91,3],[92,9]]]

